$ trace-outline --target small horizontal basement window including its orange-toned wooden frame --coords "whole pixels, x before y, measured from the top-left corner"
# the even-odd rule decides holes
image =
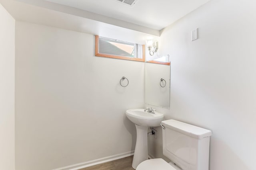
[[[145,61],[145,46],[95,35],[95,56]]]

